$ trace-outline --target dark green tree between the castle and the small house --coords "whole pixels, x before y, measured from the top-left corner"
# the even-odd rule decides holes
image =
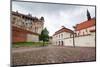
[[[49,32],[47,30],[47,28],[44,28],[41,32],[41,34],[39,35],[39,40],[43,41],[43,46],[45,44],[45,42],[49,41]]]

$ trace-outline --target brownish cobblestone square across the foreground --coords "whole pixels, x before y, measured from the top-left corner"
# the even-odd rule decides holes
[[[93,47],[46,46],[36,48],[12,48],[13,65],[95,61]]]

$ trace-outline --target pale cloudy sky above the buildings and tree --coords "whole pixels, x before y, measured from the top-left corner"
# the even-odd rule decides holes
[[[73,29],[76,24],[87,20],[87,9],[91,17],[95,17],[94,6],[80,6],[68,4],[53,4],[53,3],[36,3],[36,2],[12,2],[12,11],[18,11],[22,14],[32,14],[40,18],[44,17],[44,27],[52,36],[62,26]]]

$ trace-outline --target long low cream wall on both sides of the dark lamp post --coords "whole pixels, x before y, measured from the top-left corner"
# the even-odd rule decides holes
[[[75,46],[95,47],[95,35],[79,36],[74,38]],[[73,46],[73,38],[64,39],[65,46]]]

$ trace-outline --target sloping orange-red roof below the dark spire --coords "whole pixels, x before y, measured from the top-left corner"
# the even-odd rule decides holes
[[[85,22],[82,22],[80,24],[77,24],[76,27],[75,27],[75,31],[79,31],[79,30],[82,30],[82,29],[86,29],[88,27],[95,26],[95,24],[96,24],[95,18],[92,18],[89,21],[85,21]]]

